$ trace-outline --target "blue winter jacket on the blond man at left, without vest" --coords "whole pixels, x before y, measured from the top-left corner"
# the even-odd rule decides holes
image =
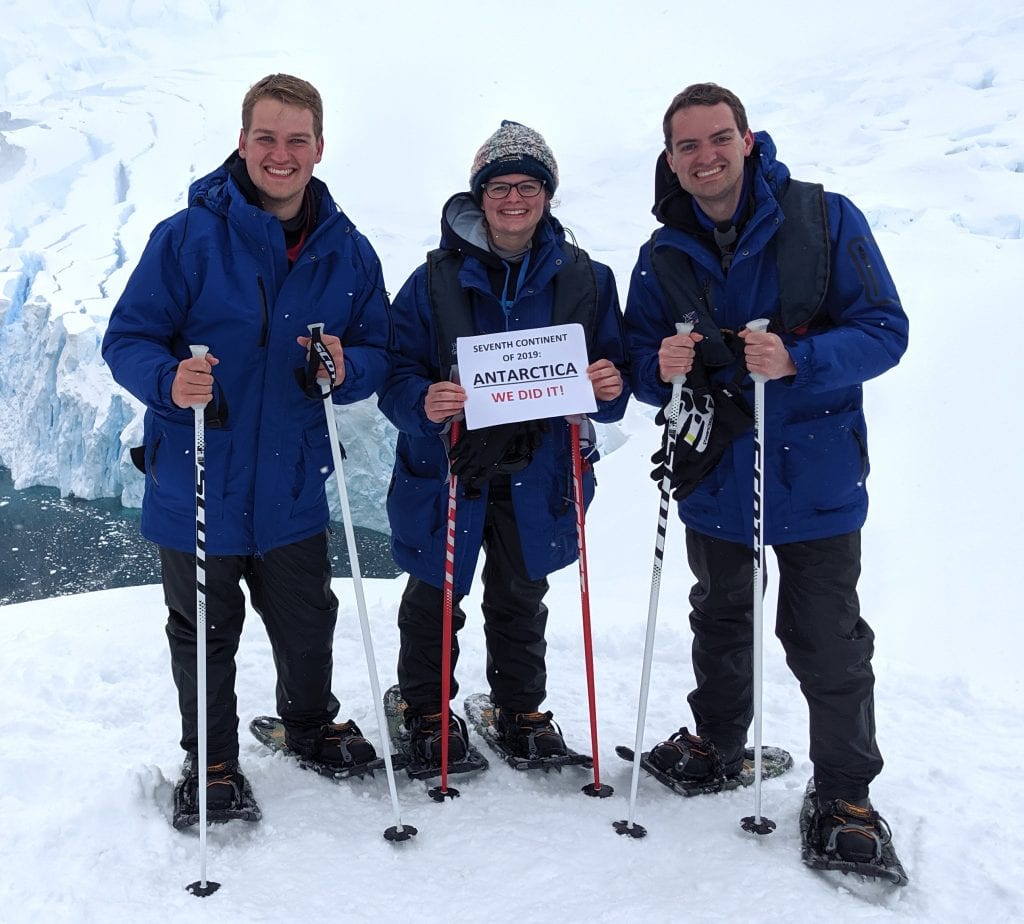
[[[196,548],[194,412],[171,401],[188,346],[203,343],[224,426],[207,426],[207,553],[262,554],[326,529],[333,470],[325,404],[301,390],[296,337],[340,337],[336,404],[370,396],[387,371],[390,308],[369,242],[317,179],[319,220],[289,268],[281,222],[250,205],[225,167],[196,181],[189,207],[154,229],[103,338],[114,378],[147,411],[142,535]],[[343,435],[343,434],[342,434]]]

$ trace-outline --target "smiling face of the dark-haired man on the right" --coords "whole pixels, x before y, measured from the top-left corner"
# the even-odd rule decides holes
[[[679,184],[714,221],[728,221],[743,188],[743,162],[754,148],[725,102],[690,106],[672,117],[668,160]]]

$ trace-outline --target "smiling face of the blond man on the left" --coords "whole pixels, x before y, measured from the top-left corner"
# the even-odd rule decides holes
[[[249,131],[239,135],[239,154],[263,208],[284,221],[302,207],[306,183],[324,155],[324,138],[313,133],[309,110],[265,96],[253,107]]]

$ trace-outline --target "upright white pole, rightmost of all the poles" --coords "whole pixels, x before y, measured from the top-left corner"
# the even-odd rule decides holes
[[[749,331],[768,330],[768,321],[759,318],[746,325]],[[765,382],[760,373],[754,379],[754,814],[740,821],[743,831],[771,834],[775,823],[761,816],[761,687],[764,649],[764,453],[765,453]]]

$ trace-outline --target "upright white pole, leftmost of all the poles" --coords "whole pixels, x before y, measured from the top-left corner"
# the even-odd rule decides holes
[[[209,346],[188,347],[204,360]],[[220,888],[206,878],[206,405],[193,405],[196,421],[196,713],[199,724],[199,879],[185,888],[205,898]]]

